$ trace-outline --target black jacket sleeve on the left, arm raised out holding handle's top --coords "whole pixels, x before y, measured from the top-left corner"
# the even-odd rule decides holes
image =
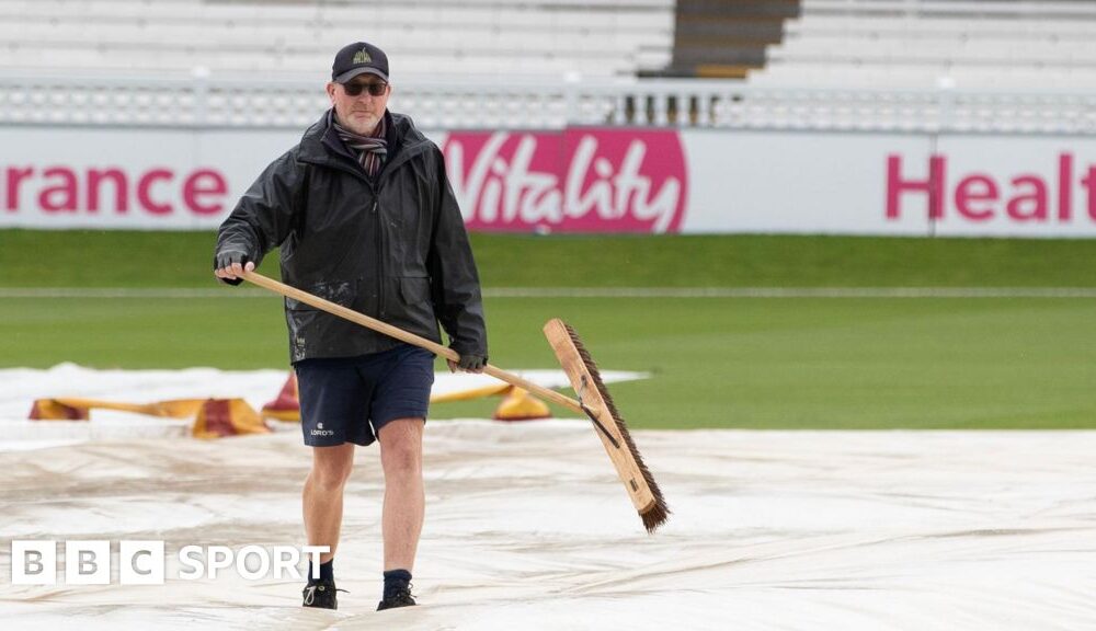
[[[243,252],[258,267],[285,241],[293,230],[304,170],[292,151],[272,162],[220,225],[214,259],[217,253]]]

